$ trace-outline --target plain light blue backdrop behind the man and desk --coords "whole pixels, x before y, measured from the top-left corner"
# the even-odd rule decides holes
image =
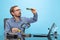
[[[55,22],[60,34],[60,0],[0,0],[0,39],[4,40],[4,18],[11,18],[10,7],[18,5],[22,16],[33,17],[26,8],[36,8],[38,21],[26,29],[26,33],[47,34],[48,27]]]

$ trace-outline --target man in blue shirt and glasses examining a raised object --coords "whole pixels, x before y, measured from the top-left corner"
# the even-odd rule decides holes
[[[37,21],[36,9],[32,8],[31,12],[33,13],[32,18],[21,17],[21,10],[19,9],[19,7],[11,7],[10,13],[12,15],[12,18],[6,21],[5,36],[8,32],[17,33],[18,36],[21,37],[21,40],[23,40],[21,33],[18,32],[18,30],[21,30],[22,32],[24,30],[24,28],[22,28],[21,25],[23,23],[33,23]]]

